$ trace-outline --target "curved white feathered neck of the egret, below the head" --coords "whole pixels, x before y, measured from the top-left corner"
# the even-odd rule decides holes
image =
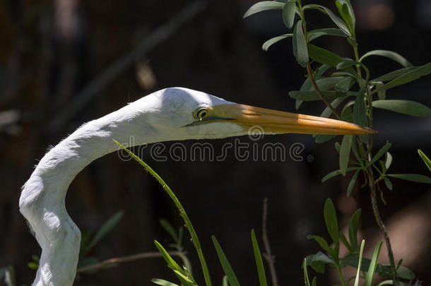
[[[117,118],[122,114],[119,111],[88,122],[49,150],[23,186],[20,212],[28,220],[42,248],[33,286],[73,284],[81,232],[66,212],[66,191],[85,166],[117,150],[112,139],[129,142],[129,135],[122,133],[124,119]],[[142,127],[139,126],[141,132],[145,130]],[[136,136],[136,145],[144,143],[143,136],[138,133]],[[149,139],[148,143],[150,141],[153,140]]]

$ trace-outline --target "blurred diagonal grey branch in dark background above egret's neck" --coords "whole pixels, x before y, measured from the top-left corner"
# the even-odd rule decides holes
[[[157,47],[158,44],[167,40],[179,27],[199,15],[206,7],[206,4],[206,1],[194,1],[176,16],[172,17],[172,20],[156,29],[148,35],[148,37],[145,37],[131,52],[120,56],[119,59],[110,64],[105,71],[96,76],[93,81],[90,81],[90,83],[76,95],[75,100],[71,102],[69,107],[64,109],[59,117],[50,122],[48,130],[54,133],[63,128],[64,124],[73,118],[77,112],[81,111],[107,83],[114,79],[115,76],[134,64],[136,60],[140,59],[148,51]]]

